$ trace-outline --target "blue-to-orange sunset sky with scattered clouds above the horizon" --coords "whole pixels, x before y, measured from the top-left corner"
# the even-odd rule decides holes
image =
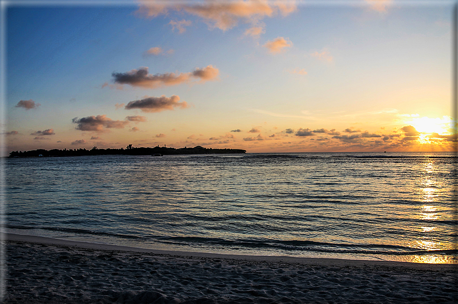
[[[455,1],[2,3],[2,153],[451,151]]]

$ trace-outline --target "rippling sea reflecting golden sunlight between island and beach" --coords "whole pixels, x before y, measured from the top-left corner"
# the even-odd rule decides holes
[[[143,248],[458,263],[453,153],[7,159],[6,230]]]

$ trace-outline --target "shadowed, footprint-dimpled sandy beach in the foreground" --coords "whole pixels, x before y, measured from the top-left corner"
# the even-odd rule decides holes
[[[452,303],[457,267],[160,251],[13,234],[4,303]]]

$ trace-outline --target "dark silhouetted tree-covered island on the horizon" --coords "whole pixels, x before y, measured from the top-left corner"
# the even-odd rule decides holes
[[[99,149],[93,147],[90,150],[85,148],[80,149],[37,149],[30,151],[12,151],[10,157],[62,157],[62,156],[90,156],[90,155],[189,155],[189,154],[240,154],[246,153],[243,149],[213,149],[195,146],[193,148],[168,148],[168,147],[133,147],[131,144],[126,148],[120,149]]]

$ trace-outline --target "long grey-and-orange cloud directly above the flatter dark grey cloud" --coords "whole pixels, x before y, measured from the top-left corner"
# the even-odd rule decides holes
[[[113,81],[117,84],[128,84],[134,87],[142,88],[160,88],[164,86],[173,86],[181,83],[189,83],[191,80],[205,82],[218,78],[220,71],[212,65],[204,68],[196,68],[187,73],[164,73],[149,74],[148,67],[140,67],[125,73],[112,73]]]

